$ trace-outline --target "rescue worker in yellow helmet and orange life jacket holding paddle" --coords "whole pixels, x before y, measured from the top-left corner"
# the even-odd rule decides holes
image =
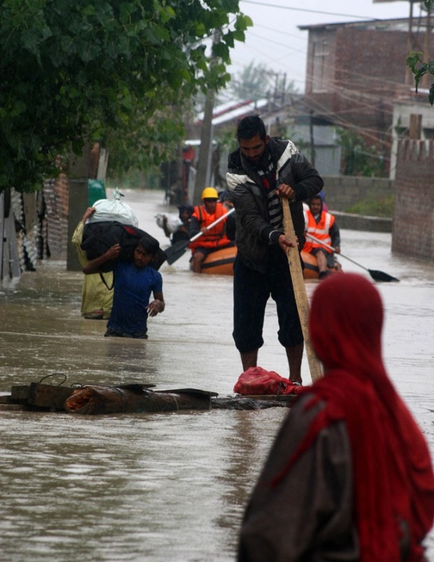
[[[205,187],[202,192],[203,205],[194,207],[189,222],[189,238],[199,232],[202,236],[189,244],[192,249],[191,268],[195,273],[200,273],[202,263],[211,252],[221,248],[233,246],[234,243],[226,235],[226,221],[220,221],[216,226],[209,229],[209,225],[225,215],[227,208],[218,201],[218,193],[214,187]]]

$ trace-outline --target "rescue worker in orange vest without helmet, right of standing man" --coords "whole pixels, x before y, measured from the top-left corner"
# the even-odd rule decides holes
[[[311,197],[309,210],[304,213],[307,234],[320,239],[324,244],[333,246],[335,253],[340,254],[340,232],[335,217],[322,209],[322,198],[320,195]],[[334,255],[331,250],[316,241],[306,238],[303,251],[316,257],[320,279],[327,275],[327,267],[333,268]]]

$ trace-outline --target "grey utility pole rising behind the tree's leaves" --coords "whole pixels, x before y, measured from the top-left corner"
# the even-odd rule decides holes
[[[214,32],[213,43],[219,43],[220,31]],[[211,59],[211,66],[216,63],[216,58]],[[209,88],[205,100],[205,111],[203,114],[202,130],[200,131],[200,148],[198,158],[198,169],[196,172],[196,180],[194,182],[193,204],[200,203],[200,194],[207,187],[209,180],[209,169],[211,167],[211,151],[212,151],[212,114],[214,110],[215,91]]]

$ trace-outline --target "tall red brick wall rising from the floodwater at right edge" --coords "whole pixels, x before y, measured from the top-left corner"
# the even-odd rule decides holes
[[[403,140],[397,154],[392,251],[434,261],[434,141]]]

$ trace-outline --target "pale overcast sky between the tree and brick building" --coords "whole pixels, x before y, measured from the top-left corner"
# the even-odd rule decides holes
[[[308,32],[300,31],[298,25],[406,18],[409,6],[406,0],[240,0],[240,11],[251,17],[254,26],[247,31],[245,43],[237,41],[231,50],[229,72],[237,74],[254,61],[272,72],[286,72],[287,84],[293,80],[302,93]],[[419,4],[415,4],[413,15],[419,14]]]

